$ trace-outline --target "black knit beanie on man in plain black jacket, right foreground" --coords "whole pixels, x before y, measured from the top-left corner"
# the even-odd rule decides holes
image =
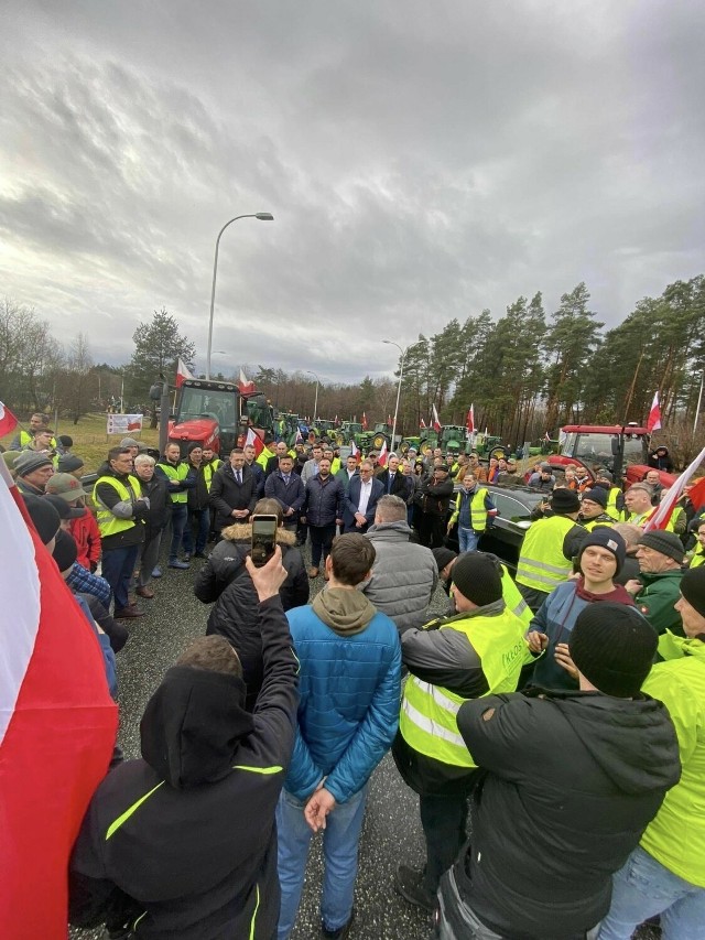
[[[659,637],[625,604],[595,602],[578,614],[571,635],[571,659],[606,695],[632,699],[651,670]]]

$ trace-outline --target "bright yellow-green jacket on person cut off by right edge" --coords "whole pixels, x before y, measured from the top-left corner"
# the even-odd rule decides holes
[[[666,661],[653,667],[643,691],[669,710],[682,771],[641,845],[670,872],[705,888],[705,642],[666,631],[659,652]]]

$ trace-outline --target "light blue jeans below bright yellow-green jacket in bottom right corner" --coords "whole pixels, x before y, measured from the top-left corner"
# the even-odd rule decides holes
[[[655,914],[661,915],[662,940],[702,940],[705,888],[674,875],[638,845],[612,875],[612,903],[599,940],[629,940]]]

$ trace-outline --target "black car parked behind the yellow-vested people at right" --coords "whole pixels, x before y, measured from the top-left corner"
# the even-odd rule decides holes
[[[498,555],[513,573],[517,570],[521,543],[532,522],[531,514],[545,499],[546,494],[529,486],[498,486],[482,482],[480,486],[489,491],[498,515],[480,537],[478,548]],[[463,485],[456,484],[455,493],[460,489]],[[451,512],[454,511],[455,501],[452,501]],[[446,541],[449,549],[458,551],[457,526],[453,527]]]

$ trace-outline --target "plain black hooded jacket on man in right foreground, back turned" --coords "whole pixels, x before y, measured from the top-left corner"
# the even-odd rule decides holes
[[[462,897],[502,937],[583,937],[679,779],[665,706],[599,692],[489,695],[460,706],[458,728],[487,771],[454,868]]]

